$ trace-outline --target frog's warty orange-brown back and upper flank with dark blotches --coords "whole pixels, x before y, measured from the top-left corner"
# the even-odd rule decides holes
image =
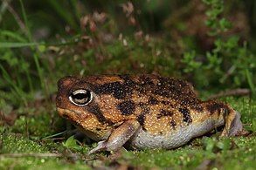
[[[95,76],[86,81],[93,83],[107,119],[114,123],[137,119],[145,132],[154,135],[190,125],[191,114],[202,110],[192,86],[181,79],[122,75]]]

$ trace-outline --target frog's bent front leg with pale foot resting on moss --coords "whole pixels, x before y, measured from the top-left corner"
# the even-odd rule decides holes
[[[140,123],[135,119],[128,119],[121,126],[114,129],[109,138],[100,141],[98,146],[93,148],[88,154],[97,153],[99,151],[116,151],[123,146],[128,139],[139,129]]]

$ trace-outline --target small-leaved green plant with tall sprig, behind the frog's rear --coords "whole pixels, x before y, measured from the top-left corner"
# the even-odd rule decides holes
[[[223,16],[223,0],[203,0],[208,6],[205,24],[210,28],[208,35],[215,38],[214,47],[206,51],[203,60],[197,60],[195,51],[186,52],[182,63],[183,71],[193,74],[198,86],[220,84],[223,87],[248,86],[255,94],[256,57],[247,49],[237,35],[225,36],[232,24]],[[198,74],[199,73],[199,74]]]

